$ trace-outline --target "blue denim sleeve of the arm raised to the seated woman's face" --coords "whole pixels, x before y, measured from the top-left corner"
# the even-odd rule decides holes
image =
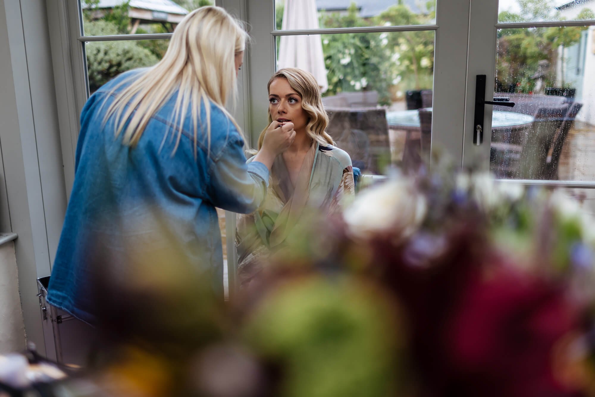
[[[269,171],[260,162],[246,164],[243,141],[234,137],[211,163],[209,198],[215,207],[237,212],[254,212],[267,194]]]

